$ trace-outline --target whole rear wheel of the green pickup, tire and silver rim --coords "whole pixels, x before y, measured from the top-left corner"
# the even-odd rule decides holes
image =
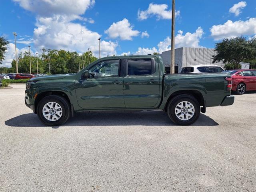
[[[168,102],[167,114],[175,124],[190,125],[199,118],[200,105],[191,95],[178,95]]]

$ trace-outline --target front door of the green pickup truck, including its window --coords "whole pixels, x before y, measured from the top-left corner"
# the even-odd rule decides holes
[[[90,78],[76,82],[76,97],[81,108],[124,108],[124,78],[121,62],[105,60],[92,66]]]

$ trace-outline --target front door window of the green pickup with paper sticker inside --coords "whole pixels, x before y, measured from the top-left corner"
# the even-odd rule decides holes
[[[93,77],[118,76],[120,60],[105,60],[90,68]]]

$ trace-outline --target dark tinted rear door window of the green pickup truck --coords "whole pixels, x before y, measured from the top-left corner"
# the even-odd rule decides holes
[[[151,59],[129,59],[128,75],[152,74]]]

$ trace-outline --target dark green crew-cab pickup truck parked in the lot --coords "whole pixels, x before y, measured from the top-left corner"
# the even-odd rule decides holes
[[[165,74],[160,56],[100,58],[77,74],[41,76],[26,83],[25,104],[47,126],[74,112],[164,110],[179,125],[194,123],[206,107],[234,103],[227,73]]]

